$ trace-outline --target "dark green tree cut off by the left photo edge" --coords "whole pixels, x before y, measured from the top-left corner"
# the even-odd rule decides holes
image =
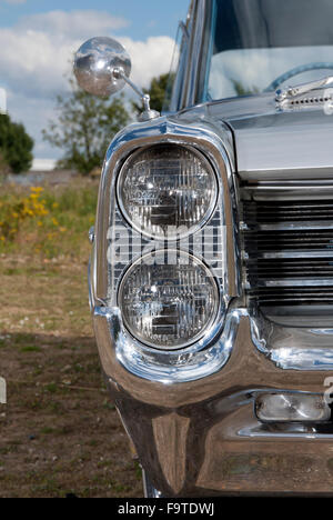
[[[23,124],[12,122],[7,114],[0,116],[0,163],[2,170],[20,173],[31,168],[33,140]]]

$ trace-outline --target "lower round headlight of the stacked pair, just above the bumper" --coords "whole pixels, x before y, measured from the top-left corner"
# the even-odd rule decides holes
[[[141,342],[160,349],[188,347],[214,322],[219,290],[211,271],[180,251],[159,251],[124,274],[119,307],[125,327]]]

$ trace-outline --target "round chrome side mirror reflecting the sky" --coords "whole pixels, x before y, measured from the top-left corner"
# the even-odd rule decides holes
[[[79,86],[94,96],[108,97],[122,90],[131,73],[131,58],[112,38],[91,38],[74,57],[74,74]],[[118,72],[114,74],[114,71]],[[122,72],[122,74],[119,73]]]

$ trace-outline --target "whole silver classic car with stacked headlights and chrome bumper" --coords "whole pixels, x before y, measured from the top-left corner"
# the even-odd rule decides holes
[[[333,491],[333,6],[290,3],[192,1],[170,112],[107,153],[90,303],[147,497]]]

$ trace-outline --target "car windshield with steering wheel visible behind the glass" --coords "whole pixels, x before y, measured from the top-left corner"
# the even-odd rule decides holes
[[[333,76],[333,0],[213,0],[205,100]]]

